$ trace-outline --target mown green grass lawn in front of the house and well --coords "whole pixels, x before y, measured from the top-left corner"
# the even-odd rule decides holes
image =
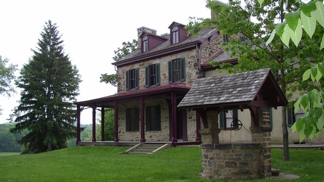
[[[72,147],[41,154],[0,156],[0,181],[213,181],[200,178],[198,147],[171,148],[152,155],[119,154],[128,147]],[[294,181],[324,179],[324,151],[272,151],[272,166],[300,175]],[[252,180],[268,181],[268,180]]]

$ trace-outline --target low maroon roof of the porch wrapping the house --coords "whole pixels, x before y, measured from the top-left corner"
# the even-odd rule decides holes
[[[102,98],[76,102],[75,105],[88,106],[88,107],[92,107],[93,105],[95,105],[96,107],[113,108],[115,101],[138,99],[139,97],[152,97],[152,96],[160,97],[162,96],[162,94],[166,94],[172,91],[177,93],[182,93],[184,95],[190,90],[190,88],[191,86],[186,86],[181,84],[163,84],[163,85],[151,86],[147,88],[121,91],[118,92],[117,94],[102,97]]]

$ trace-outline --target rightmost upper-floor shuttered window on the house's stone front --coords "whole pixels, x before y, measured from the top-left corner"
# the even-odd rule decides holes
[[[185,58],[169,61],[169,83],[185,81]]]

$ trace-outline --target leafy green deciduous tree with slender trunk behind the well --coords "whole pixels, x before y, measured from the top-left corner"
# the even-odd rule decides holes
[[[221,67],[230,66],[227,70],[231,73],[271,68],[288,99],[296,90],[316,87],[313,84],[302,83],[302,73],[323,56],[318,49],[320,41],[304,35],[301,38],[302,47],[290,46],[288,49],[276,36],[271,44],[265,44],[272,36],[271,32],[277,22],[283,22],[287,13],[294,12],[299,7],[298,3],[289,1],[284,7],[279,0],[268,0],[260,6],[257,1],[246,0],[246,6],[242,7],[238,0],[229,1],[229,5],[226,6],[217,1],[207,2],[207,7],[215,16],[211,19],[193,19],[188,26],[189,33],[195,34],[203,27],[214,26],[220,29],[222,34],[242,35],[247,40],[240,42],[238,38],[232,38],[229,43],[223,44],[225,51],[231,51],[231,56],[238,56],[238,64],[234,67],[224,64]],[[293,42],[289,42],[289,45],[293,45]],[[217,63],[214,65],[218,66]],[[281,113],[284,160],[289,160],[286,107],[282,107]]]

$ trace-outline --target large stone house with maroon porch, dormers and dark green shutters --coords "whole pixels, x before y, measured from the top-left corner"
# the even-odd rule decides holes
[[[76,103],[77,142],[80,142],[80,111],[84,107],[93,109],[94,123],[97,108],[101,108],[102,118],[105,108],[115,110],[114,143],[201,142],[199,129],[204,126],[199,114],[177,106],[197,79],[226,74],[215,71],[209,64],[211,60],[235,64],[237,58],[229,57],[229,53],[220,48],[222,42],[228,41],[228,35],[222,35],[214,28],[200,30],[196,36],[187,35],[184,27],[181,23],[172,22],[170,33],[162,35],[157,35],[156,30],[147,27],[137,29],[138,49],[112,63],[118,74],[117,94]],[[235,38],[245,41],[241,36]],[[289,126],[299,114],[288,111]],[[249,111],[222,111],[218,117],[220,143],[252,140],[248,127],[240,130],[231,127],[232,121],[237,119],[242,126],[249,126]],[[270,109],[270,120],[273,128],[271,140],[281,143],[279,107]],[[93,142],[96,142],[95,124],[93,126]],[[101,134],[102,141],[105,141],[103,129]],[[295,141],[299,141],[298,134],[290,134],[290,143]],[[323,136],[315,142],[321,141],[324,141]]]

